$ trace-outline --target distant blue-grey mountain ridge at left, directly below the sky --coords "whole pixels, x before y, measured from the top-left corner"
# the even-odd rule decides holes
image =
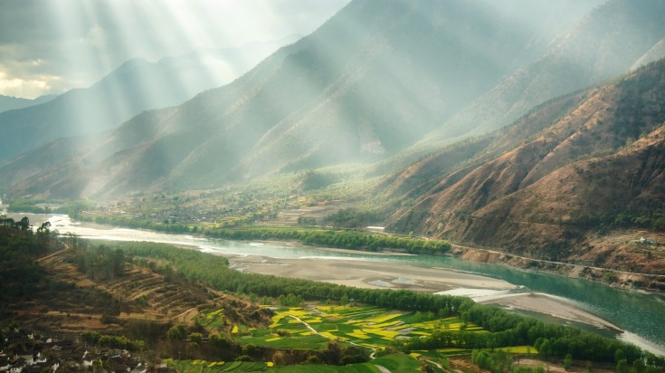
[[[196,93],[233,81],[295,37],[196,51],[158,62],[130,60],[89,88],[68,91],[41,105],[2,112],[0,162],[55,139],[118,127],[144,110],[180,104]]]

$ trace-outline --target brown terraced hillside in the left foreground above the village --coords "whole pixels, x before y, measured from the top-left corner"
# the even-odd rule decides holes
[[[100,281],[80,273],[74,257],[73,250],[65,250],[40,262],[46,279],[30,300],[12,304],[8,311],[14,319],[60,332],[122,330],[132,320],[189,323],[205,308],[223,309],[229,328],[233,322],[261,321],[258,306],[186,282],[176,273],[166,277],[125,263],[122,276]],[[102,322],[109,317],[113,319]]]

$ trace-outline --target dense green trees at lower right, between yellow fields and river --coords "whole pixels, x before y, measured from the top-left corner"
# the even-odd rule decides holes
[[[489,333],[437,330],[423,339],[406,342],[407,349],[496,349],[505,346],[534,346],[545,357],[613,362],[617,351],[629,362],[648,360],[652,366],[665,368],[665,360],[638,347],[602,337],[592,332],[546,323],[508,313],[499,307],[474,304],[461,312],[465,322],[473,322]]]

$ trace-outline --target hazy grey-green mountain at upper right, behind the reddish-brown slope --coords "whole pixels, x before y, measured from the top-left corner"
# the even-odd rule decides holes
[[[417,144],[477,136],[506,126],[534,106],[585,89],[663,55],[665,3],[610,0],[559,36],[551,49],[446,120]]]

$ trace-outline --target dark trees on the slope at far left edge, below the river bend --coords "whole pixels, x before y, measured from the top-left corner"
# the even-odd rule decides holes
[[[27,217],[0,216],[0,308],[11,299],[29,299],[43,279],[35,259],[62,247],[49,227],[43,224],[35,232]]]

